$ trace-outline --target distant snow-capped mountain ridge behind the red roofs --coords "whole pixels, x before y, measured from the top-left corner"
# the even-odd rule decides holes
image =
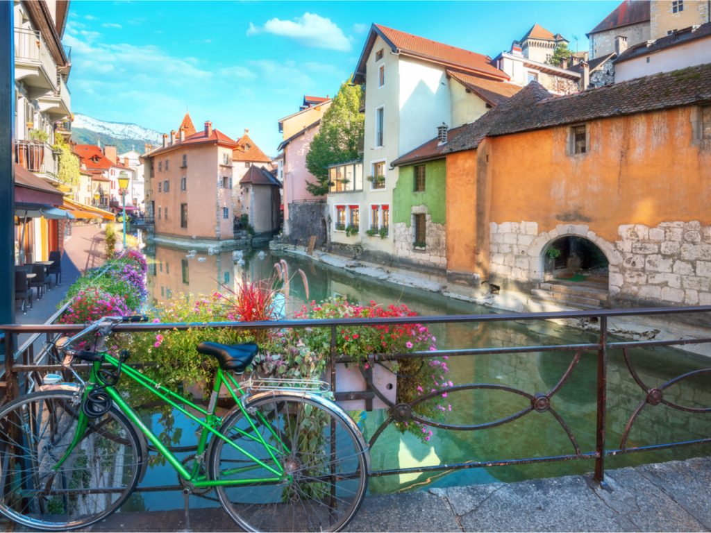
[[[107,122],[77,113],[72,122],[72,141],[76,144],[115,144],[117,154],[132,149],[142,154],[145,144],[159,146],[163,135],[154,129],[127,122]]]

